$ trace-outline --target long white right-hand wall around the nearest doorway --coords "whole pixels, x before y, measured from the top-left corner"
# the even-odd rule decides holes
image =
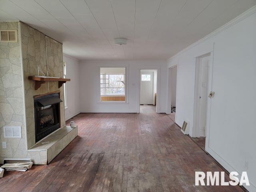
[[[256,7],[168,60],[178,64],[176,122],[193,125],[195,57],[214,51],[208,152],[256,191]],[[243,18],[243,20],[241,20]],[[191,130],[190,130],[191,131]],[[191,134],[191,132],[190,132]],[[245,162],[248,161],[248,169]]]

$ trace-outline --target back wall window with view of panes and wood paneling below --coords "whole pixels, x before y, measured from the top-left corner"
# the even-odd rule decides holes
[[[100,68],[100,101],[125,102],[125,68]]]

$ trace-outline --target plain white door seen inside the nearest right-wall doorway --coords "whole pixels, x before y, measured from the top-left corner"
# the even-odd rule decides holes
[[[206,136],[209,61],[210,56],[202,58],[199,69],[199,136]]]

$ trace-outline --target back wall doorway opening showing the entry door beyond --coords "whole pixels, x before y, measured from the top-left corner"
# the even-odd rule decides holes
[[[140,106],[151,105],[156,111],[156,84],[157,70],[140,70]]]

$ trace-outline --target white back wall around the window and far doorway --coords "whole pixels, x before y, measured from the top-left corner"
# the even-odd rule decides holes
[[[126,67],[127,103],[100,103],[100,67]],[[91,60],[80,62],[81,112],[138,112],[140,69],[158,70],[158,112],[166,112],[166,61]]]

